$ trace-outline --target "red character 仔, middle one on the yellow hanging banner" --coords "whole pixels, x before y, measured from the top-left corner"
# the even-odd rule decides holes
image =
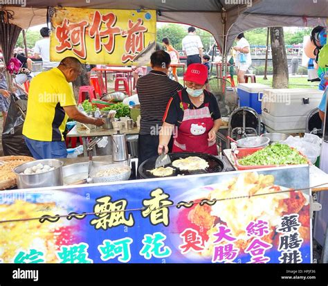
[[[102,51],[102,46],[106,49],[107,53],[113,53],[115,48],[115,36],[120,35],[120,28],[114,27],[117,17],[113,13],[101,15],[99,11],[95,11],[93,21],[89,30],[89,36],[95,39],[95,53]],[[106,28],[101,30],[102,22]],[[108,38],[107,43],[103,43],[102,39]]]

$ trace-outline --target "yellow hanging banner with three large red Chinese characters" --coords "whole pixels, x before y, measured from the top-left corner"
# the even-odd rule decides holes
[[[53,8],[51,61],[147,65],[156,46],[155,10]]]

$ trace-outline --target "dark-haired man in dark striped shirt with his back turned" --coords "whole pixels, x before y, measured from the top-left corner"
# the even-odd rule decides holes
[[[165,51],[156,51],[150,57],[152,71],[138,79],[136,89],[140,102],[140,132],[138,164],[157,155],[158,134],[163,124],[167,102],[183,86],[170,80],[167,71],[171,58]],[[170,141],[170,138],[169,138]]]

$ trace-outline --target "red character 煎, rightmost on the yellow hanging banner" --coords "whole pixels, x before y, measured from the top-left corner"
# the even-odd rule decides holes
[[[122,37],[127,37],[125,41],[125,54],[122,55],[122,62],[128,62],[133,60],[136,54],[143,51],[145,47],[144,33],[147,32],[147,28],[143,26],[143,20],[138,19],[134,24],[133,21],[128,22],[129,30],[123,30]]]

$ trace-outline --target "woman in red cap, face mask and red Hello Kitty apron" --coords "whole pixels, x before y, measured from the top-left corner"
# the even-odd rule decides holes
[[[215,96],[206,91],[207,68],[190,64],[184,75],[182,91],[174,94],[167,104],[159,136],[158,154],[168,152],[167,144],[174,132],[172,152],[201,152],[217,155],[216,133],[221,114]]]

